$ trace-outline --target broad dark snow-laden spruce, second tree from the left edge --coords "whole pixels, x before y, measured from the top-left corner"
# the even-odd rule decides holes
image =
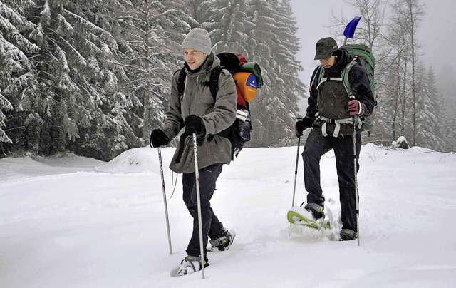
[[[106,1],[38,1],[31,37],[41,47],[33,63],[42,83],[43,155],[85,150],[88,156],[106,160],[104,153],[109,158],[128,144],[138,145],[133,133],[120,145],[116,142],[125,131],[115,120],[119,110],[113,108],[123,98],[113,96],[127,77],[115,59],[115,38],[106,29],[110,23],[103,16],[109,11]],[[105,146],[98,145],[100,139]]]

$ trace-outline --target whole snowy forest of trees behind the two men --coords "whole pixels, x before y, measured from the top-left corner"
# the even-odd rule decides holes
[[[353,41],[377,59],[378,109],[364,143],[405,136],[455,151],[455,97],[420,62],[420,1],[352,4],[366,19]],[[296,145],[308,80],[299,78],[305,39],[293,15],[289,0],[1,0],[0,157],[68,152],[108,161],[148,145],[183,65],[182,40],[195,27],[209,31],[214,53],[242,53],[262,68],[247,147]],[[334,33],[349,20],[333,19]]]

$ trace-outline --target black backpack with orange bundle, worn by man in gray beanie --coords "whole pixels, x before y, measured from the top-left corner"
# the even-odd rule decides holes
[[[209,81],[204,86],[209,86],[212,97],[217,97],[219,91],[219,76],[223,69],[232,74],[237,90],[236,120],[227,129],[219,133],[220,136],[228,138],[232,147],[232,160],[244,148],[244,144],[250,140],[252,132],[252,118],[250,115],[249,101],[257,96],[257,89],[263,85],[261,68],[255,62],[247,62],[246,58],[239,53],[224,52],[217,54],[220,59],[220,66],[214,68],[209,76]],[[180,69],[177,78],[177,91],[179,95],[185,89],[185,68]]]

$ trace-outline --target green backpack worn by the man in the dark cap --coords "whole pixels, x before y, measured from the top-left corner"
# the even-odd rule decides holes
[[[371,51],[371,48],[364,44],[347,44],[344,46],[341,46],[341,49],[346,49],[348,51],[348,54],[353,55],[355,58],[353,61],[347,64],[346,68],[343,69],[342,71],[342,78],[343,78],[343,86],[345,86],[346,91],[348,95],[352,95],[351,91],[351,86],[350,83],[348,83],[348,72],[350,71],[350,68],[355,65],[355,63],[358,63],[361,67],[366,70],[366,73],[368,74],[368,79],[369,83],[371,83],[371,91],[374,95],[375,98],[375,106],[373,113],[369,115],[368,117],[363,117],[363,127],[364,130],[368,131],[368,136],[371,135],[371,130],[373,128],[373,120],[375,113],[377,111],[377,98],[378,94],[375,93],[375,82],[374,82],[374,70],[375,70],[375,57],[373,56],[373,53]],[[323,69],[321,69],[321,66],[319,67],[319,73],[318,71],[316,72],[316,76],[318,75],[318,79],[314,79],[312,81],[312,84],[314,81],[317,81],[317,83],[320,82],[321,77],[323,77]]]

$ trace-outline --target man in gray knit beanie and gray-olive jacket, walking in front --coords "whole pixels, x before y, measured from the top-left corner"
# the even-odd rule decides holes
[[[231,161],[231,142],[218,133],[228,128],[236,118],[236,84],[227,70],[219,76],[219,91],[214,99],[210,91],[209,76],[220,64],[212,52],[209,33],[195,28],[185,37],[182,49],[185,58],[185,89],[180,96],[177,86],[179,71],[172,78],[169,110],[162,129],[153,130],[150,143],[160,147],[170,143],[185,128],[180,136],[180,144],[172,158],[170,169],[183,173],[183,200],[193,217],[193,232],[187,247],[187,257],[181,262],[178,275],[185,275],[207,265],[207,237],[218,250],[227,250],[232,244],[234,232],[229,232],[217,219],[210,205],[215,184],[222,172],[223,164]],[[206,83],[207,82],[207,83]],[[199,171],[199,192],[201,200],[202,232],[204,255],[199,247],[199,225],[197,215],[197,195],[195,186],[195,157],[192,133],[197,135],[197,158]]]

